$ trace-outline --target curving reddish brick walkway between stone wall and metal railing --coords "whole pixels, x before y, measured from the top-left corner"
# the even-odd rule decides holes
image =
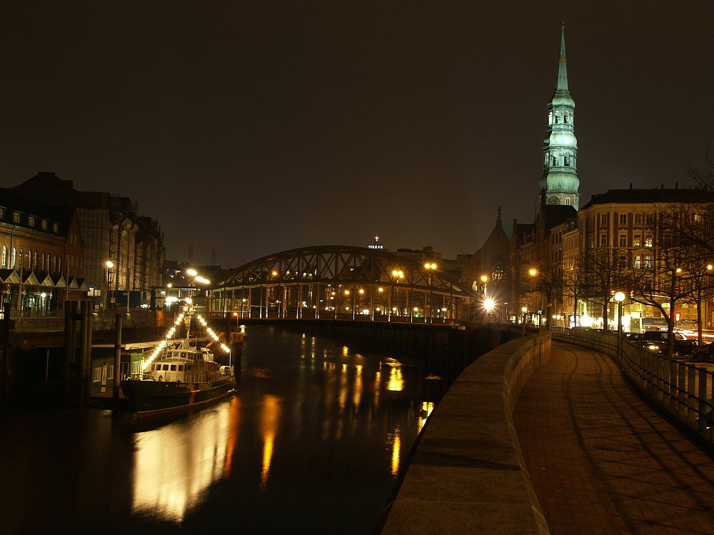
[[[714,461],[607,356],[554,341],[513,421],[553,534],[714,534]]]

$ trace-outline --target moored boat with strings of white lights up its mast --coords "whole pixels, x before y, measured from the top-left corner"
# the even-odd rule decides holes
[[[228,365],[219,364],[210,347],[191,341],[191,320],[194,316],[216,345],[228,353]],[[186,337],[174,339],[176,330],[182,326],[185,326]],[[234,394],[236,374],[231,365],[230,351],[218,342],[218,336],[188,301],[166,340],[144,363],[144,373],[132,380],[121,381],[121,390],[131,401],[137,415],[154,416],[199,409]]]

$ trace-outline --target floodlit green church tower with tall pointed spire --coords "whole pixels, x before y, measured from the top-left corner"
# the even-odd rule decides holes
[[[543,140],[542,204],[569,204],[578,209],[578,140],[575,139],[575,101],[568,91],[565,64],[565,26],[560,30],[558,83],[548,103],[548,130]]]

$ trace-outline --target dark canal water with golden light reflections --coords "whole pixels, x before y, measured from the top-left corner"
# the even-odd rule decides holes
[[[241,369],[237,396],[162,425],[0,413],[0,533],[373,534],[439,381],[259,329]]]

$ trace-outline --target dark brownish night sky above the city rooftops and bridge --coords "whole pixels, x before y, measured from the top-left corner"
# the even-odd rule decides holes
[[[473,253],[532,222],[560,23],[580,205],[714,151],[714,2],[4,5],[0,185],[139,201],[167,258],[313,245]]]

